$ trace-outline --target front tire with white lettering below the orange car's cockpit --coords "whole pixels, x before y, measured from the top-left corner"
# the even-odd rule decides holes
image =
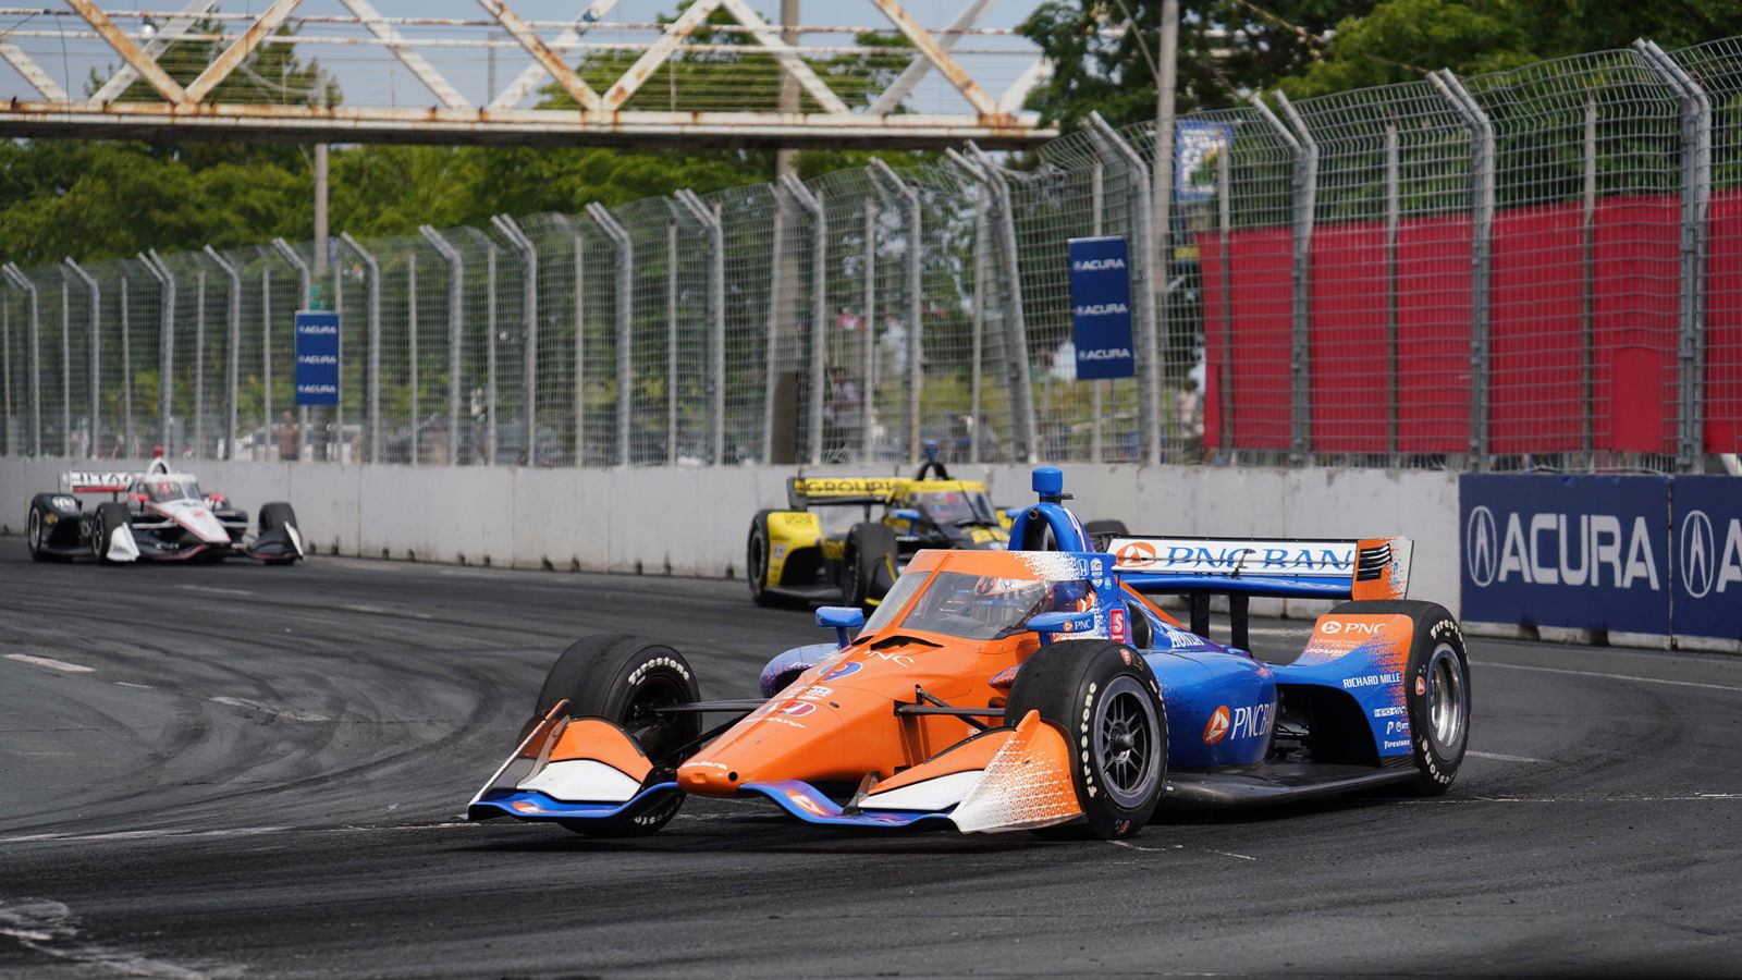
[[[1167,711],[1143,656],[1106,640],[1061,640],[1035,650],[1010,685],[1003,717],[1030,710],[1064,732],[1080,823],[1043,837],[1115,840],[1143,830],[1167,781]]]

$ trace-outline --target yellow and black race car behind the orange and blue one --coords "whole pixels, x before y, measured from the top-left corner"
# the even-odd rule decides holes
[[[1125,534],[1089,521],[1090,534]],[[751,518],[744,570],[756,605],[840,602],[874,607],[908,561],[927,548],[1003,551],[1010,516],[986,483],[951,480],[925,443],[925,462],[902,476],[794,476],[787,509]]]

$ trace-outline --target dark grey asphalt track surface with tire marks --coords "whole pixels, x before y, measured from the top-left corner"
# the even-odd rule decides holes
[[[706,698],[820,636],[740,582],[0,539],[0,977],[1742,973],[1735,657],[1472,638],[1446,797],[1122,844],[721,800],[629,842],[460,821],[556,654],[622,631]]]

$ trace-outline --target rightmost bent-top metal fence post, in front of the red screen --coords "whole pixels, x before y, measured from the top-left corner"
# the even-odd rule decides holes
[[[1705,256],[1712,206],[1712,103],[1705,89],[1653,40],[1634,51],[1681,96],[1681,310],[1676,363],[1681,378],[1676,469],[1698,473],[1705,412]]]

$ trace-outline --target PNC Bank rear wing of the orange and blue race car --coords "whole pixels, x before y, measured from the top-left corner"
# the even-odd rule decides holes
[[[1188,596],[1192,631],[1200,636],[1209,628],[1209,596],[1226,595],[1233,645],[1244,649],[1251,596],[1404,598],[1413,542],[1408,537],[1115,537],[1106,549],[1113,555],[1113,572],[1139,593]]]

